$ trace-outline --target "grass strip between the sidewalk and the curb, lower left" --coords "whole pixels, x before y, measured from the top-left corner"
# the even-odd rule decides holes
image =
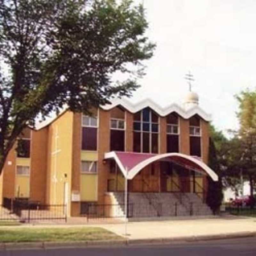
[[[104,228],[1,228],[0,242],[72,242],[123,239]]]

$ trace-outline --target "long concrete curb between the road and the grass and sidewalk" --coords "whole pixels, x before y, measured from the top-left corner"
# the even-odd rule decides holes
[[[125,239],[125,240],[100,240],[100,241],[80,241],[80,242],[33,242],[33,243],[1,243],[0,251],[5,250],[33,250],[33,249],[57,249],[57,248],[84,248],[101,246],[129,246],[143,244],[177,244],[197,241],[211,241],[220,239],[254,237],[256,231],[226,233],[219,235],[201,235],[201,236],[180,236],[173,238],[152,238],[152,239]]]

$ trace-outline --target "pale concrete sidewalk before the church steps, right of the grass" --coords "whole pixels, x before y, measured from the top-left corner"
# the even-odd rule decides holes
[[[214,219],[163,220],[124,224],[93,225],[106,228],[129,240],[172,239],[179,237],[220,236],[256,233],[256,218],[226,216]]]

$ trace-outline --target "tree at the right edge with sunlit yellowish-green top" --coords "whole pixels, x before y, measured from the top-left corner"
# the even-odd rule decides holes
[[[225,154],[225,180],[231,187],[240,184],[240,177],[250,182],[250,195],[256,181],[256,92],[245,90],[236,95],[240,127],[231,131]]]

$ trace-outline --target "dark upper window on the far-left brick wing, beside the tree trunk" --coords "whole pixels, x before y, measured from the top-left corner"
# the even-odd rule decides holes
[[[31,130],[25,128],[18,137],[17,156],[29,158],[30,157],[30,140]]]

